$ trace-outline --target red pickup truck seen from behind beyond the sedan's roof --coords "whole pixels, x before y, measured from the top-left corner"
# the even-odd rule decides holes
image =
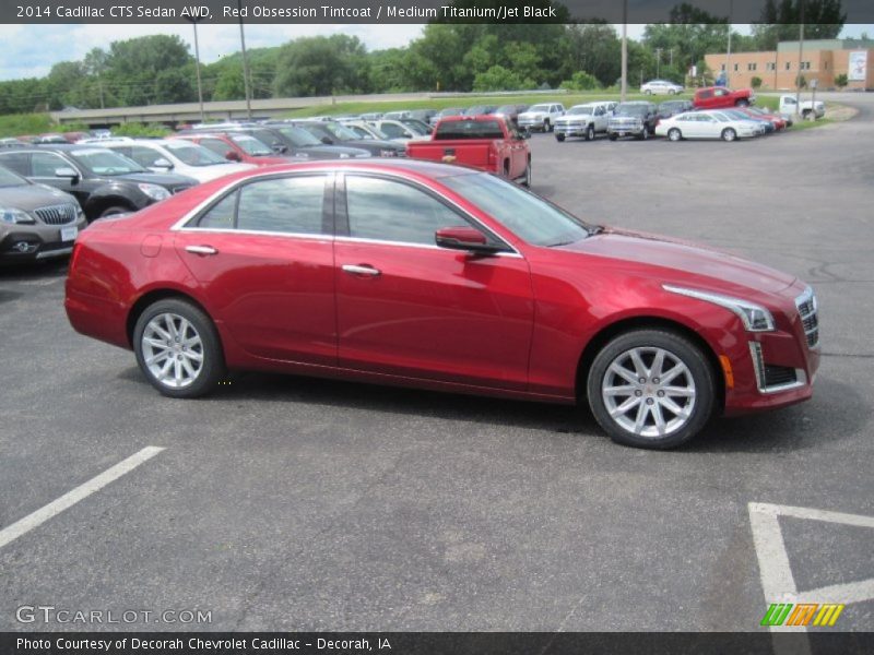
[[[500,116],[452,116],[441,119],[427,141],[409,141],[416,159],[464,164],[531,186],[528,133]]]

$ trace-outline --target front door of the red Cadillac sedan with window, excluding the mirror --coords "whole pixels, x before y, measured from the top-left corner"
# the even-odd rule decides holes
[[[487,233],[417,184],[345,176],[335,243],[340,366],[527,388],[534,320],[528,263],[509,248],[475,257],[435,245],[438,228],[459,225]]]

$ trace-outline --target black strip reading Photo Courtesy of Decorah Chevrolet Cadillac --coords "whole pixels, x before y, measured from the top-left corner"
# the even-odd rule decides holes
[[[874,633],[349,632],[0,633],[2,655],[811,655],[874,653]]]

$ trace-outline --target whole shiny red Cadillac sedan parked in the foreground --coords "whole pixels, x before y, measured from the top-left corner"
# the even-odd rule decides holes
[[[252,369],[588,398],[643,448],[807,400],[819,362],[816,299],[791,275],[413,160],[248,171],[97,222],[66,306],[168,396]]]

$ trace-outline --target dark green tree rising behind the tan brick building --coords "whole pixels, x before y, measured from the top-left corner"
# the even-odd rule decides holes
[[[804,2],[804,38],[837,38],[847,14],[840,0],[767,0],[761,21],[753,25],[760,50],[775,50],[781,40],[798,40],[801,2]]]

